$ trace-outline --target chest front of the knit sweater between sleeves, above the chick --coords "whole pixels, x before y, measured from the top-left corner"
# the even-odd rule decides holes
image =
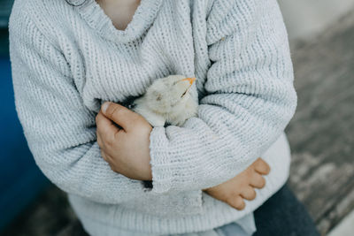
[[[119,103],[128,96],[142,95],[152,80],[170,74],[196,77],[194,89],[203,92],[210,66],[205,41],[207,1],[162,1],[156,14],[147,7],[149,1],[142,0],[128,27],[155,19],[134,40],[122,40],[125,33],[113,27],[98,4],[80,10],[69,23],[72,28],[58,37],[76,88],[90,110],[98,111],[104,101]],[[90,15],[96,22],[82,20]],[[107,28],[112,35],[107,34]]]

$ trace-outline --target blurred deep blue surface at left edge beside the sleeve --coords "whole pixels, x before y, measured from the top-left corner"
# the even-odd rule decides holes
[[[0,58],[0,231],[49,186],[27,146],[15,110],[11,65]]]

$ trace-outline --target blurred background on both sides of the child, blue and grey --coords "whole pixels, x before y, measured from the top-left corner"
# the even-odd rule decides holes
[[[12,0],[0,0],[0,235],[54,235],[75,219],[35,165],[17,118],[8,52]],[[298,106],[286,129],[289,186],[322,235],[354,232],[354,0],[279,0]],[[43,222],[45,221],[45,224]]]

